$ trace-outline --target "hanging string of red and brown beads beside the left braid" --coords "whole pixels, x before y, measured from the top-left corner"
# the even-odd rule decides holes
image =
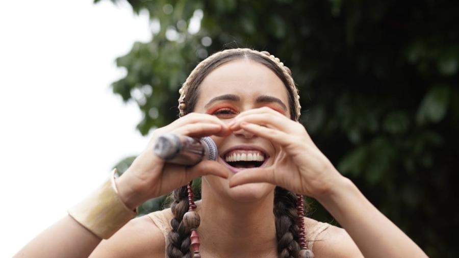
[[[188,212],[183,216],[183,223],[186,227],[191,230],[191,250],[193,250],[193,258],[201,258],[199,254],[199,236],[197,235],[196,228],[199,226],[201,219],[199,214],[194,211],[196,204],[193,200],[193,189],[191,188],[191,182],[187,185],[188,188],[188,203],[190,208]]]

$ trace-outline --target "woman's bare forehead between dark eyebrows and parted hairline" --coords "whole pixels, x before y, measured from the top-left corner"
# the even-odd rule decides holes
[[[288,107],[288,93],[281,79],[265,65],[247,59],[228,62],[210,72],[199,87],[195,109],[202,109],[210,99],[223,94],[238,95],[242,102],[269,95]]]

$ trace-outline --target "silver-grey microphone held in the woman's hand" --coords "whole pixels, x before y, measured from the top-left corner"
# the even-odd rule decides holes
[[[210,137],[192,138],[165,134],[155,141],[155,154],[166,163],[193,166],[202,160],[217,160],[217,145]]]

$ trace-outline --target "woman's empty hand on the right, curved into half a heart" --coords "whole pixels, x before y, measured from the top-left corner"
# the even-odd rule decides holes
[[[295,193],[319,197],[329,193],[343,176],[311,140],[304,126],[264,107],[239,114],[229,125],[241,128],[280,147],[269,167],[250,168],[232,176],[230,187],[266,182]]]

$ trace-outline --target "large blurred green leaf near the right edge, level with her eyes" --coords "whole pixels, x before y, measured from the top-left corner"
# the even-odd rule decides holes
[[[416,122],[419,125],[440,122],[446,115],[450,92],[450,88],[446,85],[430,89],[421,101]]]

